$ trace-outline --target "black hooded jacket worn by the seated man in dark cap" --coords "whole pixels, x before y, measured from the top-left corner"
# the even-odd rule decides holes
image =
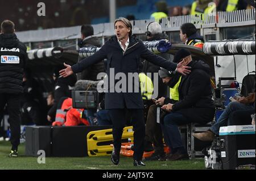
[[[181,78],[179,102],[173,111],[182,113],[195,123],[212,121],[215,113],[210,85],[210,68],[203,61],[191,61],[191,73]]]

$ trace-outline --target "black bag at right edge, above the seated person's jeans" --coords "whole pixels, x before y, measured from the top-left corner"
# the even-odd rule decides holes
[[[243,78],[241,95],[246,97],[249,95],[249,93],[254,93],[254,92],[255,92],[255,71],[251,71],[249,74],[247,74]]]

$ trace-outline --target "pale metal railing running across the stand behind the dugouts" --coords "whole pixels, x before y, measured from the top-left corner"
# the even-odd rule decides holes
[[[133,33],[143,34],[146,32],[147,24],[154,20],[134,20]],[[172,16],[160,21],[163,31],[179,31],[180,26],[183,23],[192,22],[197,28],[206,27],[236,27],[255,24],[255,9],[251,10],[239,10],[232,12],[216,12],[213,14],[205,15],[204,20],[201,17],[196,16]],[[94,34],[100,36],[113,36],[114,24],[102,23],[92,25],[94,28]],[[24,43],[39,42],[39,41],[54,41],[64,39],[78,39],[80,38],[80,27],[65,27],[65,28],[52,28],[48,30],[35,30],[35,31],[23,31],[16,33],[20,41]],[[40,36],[39,36],[40,35]]]

